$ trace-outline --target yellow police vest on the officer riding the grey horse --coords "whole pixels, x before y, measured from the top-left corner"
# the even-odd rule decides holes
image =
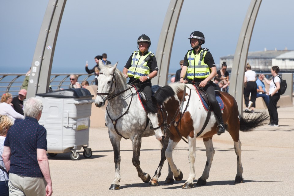
[[[130,66],[127,75],[129,77],[140,78],[142,76],[148,76],[150,74],[147,62],[154,54],[148,52],[144,56],[140,56],[140,51],[134,51],[132,56],[132,65]]]

